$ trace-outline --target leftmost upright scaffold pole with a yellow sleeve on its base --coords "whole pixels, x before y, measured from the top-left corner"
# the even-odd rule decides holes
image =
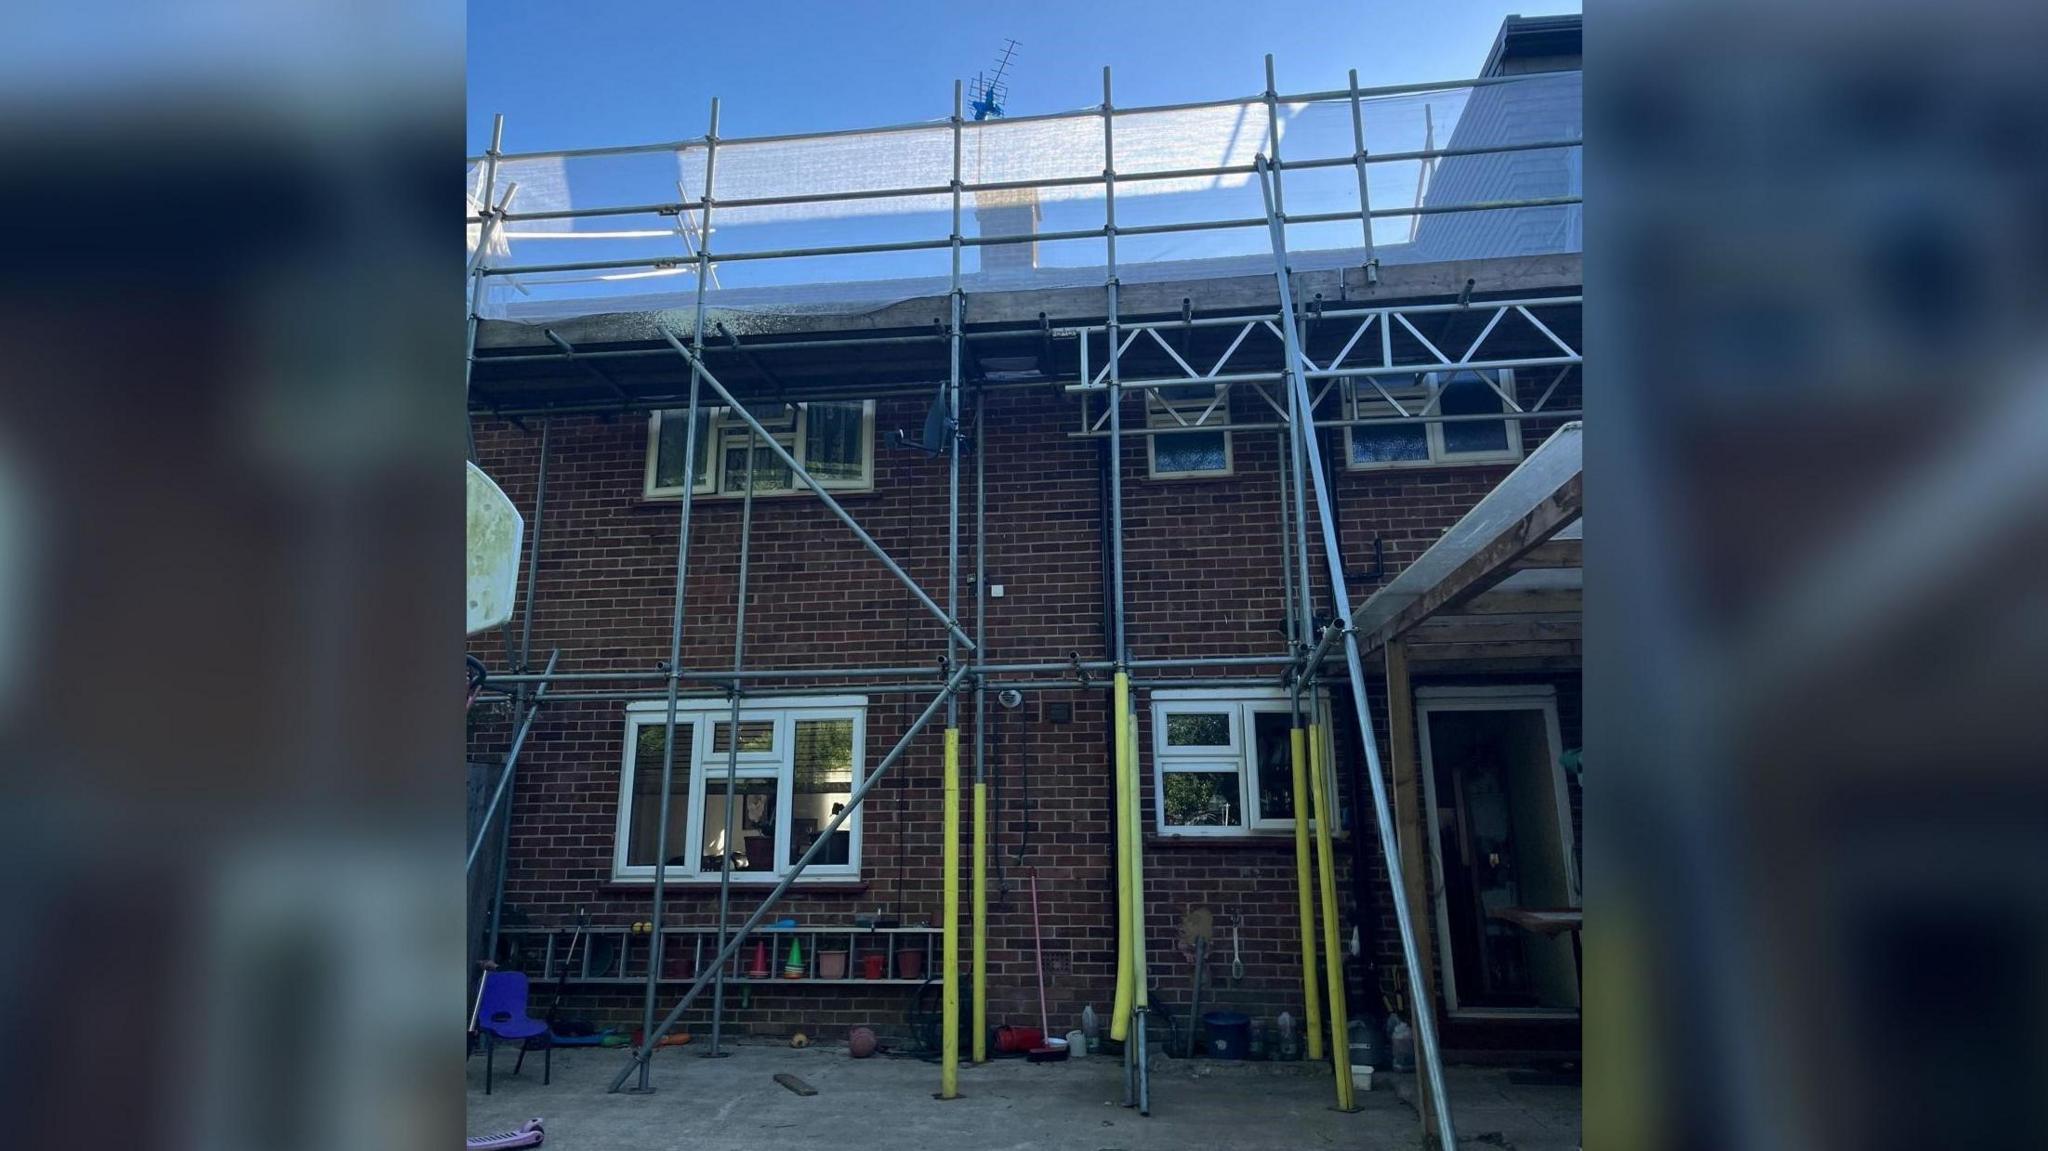
[[[950,319],[946,324],[946,668],[961,659],[961,645],[954,637],[961,619],[961,82],[952,82],[952,291],[946,293]],[[977,651],[979,655],[979,651]],[[979,807],[979,793],[977,793]],[[940,936],[944,954],[942,995],[940,995],[940,1071],[938,1096],[942,1100],[961,1094],[961,698],[946,696],[946,832],[944,840],[944,903],[946,928]],[[977,866],[979,870],[979,866]],[[975,1012],[981,1012],[981,940],[975,938]],[[975,1049],[981,1049],[981,1030],[975,1030]]]

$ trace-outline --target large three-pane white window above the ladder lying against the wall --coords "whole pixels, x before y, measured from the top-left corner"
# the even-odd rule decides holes
[[[758,479],[758,477],[756,477]],[[618,836],[612,877],[653,881],[662,811],[662,760],[668,702],[627,707],[618,772]],[[782,707],[739,711],[737,756],[731,705],[676,705],[676,768],[670,778],[668,879],[715,879],[727,862],[733,883],[772,883],[823,836],[852,803],[866,748],[866,698],[793,698]],[[727,772],[733,823],[725,823]],[[860,809],[831,834],[803,870],[809,879],[860,877]]]

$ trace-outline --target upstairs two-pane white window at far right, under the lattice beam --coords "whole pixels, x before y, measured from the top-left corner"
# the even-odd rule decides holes
[[[1499,463],[1522,459],[1522,420],[1503,395],[1516,393],[1513,369],[1360,377],[1346,381],[1354,420],[1391,416],[1501,416],[1499,420],[1448,420],[1366,424],[1343,430],[1350,469],[1432,467],[1446,463]]]

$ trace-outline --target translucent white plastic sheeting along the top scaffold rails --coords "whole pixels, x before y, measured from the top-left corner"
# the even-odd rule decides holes
[[[1448,88],[1360,100],[1368,154],[1419,152],[1427,145],[1528,143],[1579,135],[1579,76],[1530,76],[1509,84]],[[1462,129],[1468,109],[1483,111],[1481,129]],[[1124,283],[1260,274],[1272,268],[1264,205],[1249,172],[1145,180],[1151,172],[1249,168],[1272,152],[1286,162],[1350,160],[1352,100],[1282,100],[1276,123],[1264,100],[1198,109],[1120,111],[1114,117],[1116,223],[1120,229],[1169,223],[1247,221],[1241,227],[1180,233],[1118,236],[1118,276]],[[1477,123],[1477,121],[1475,121]],[[514,125],[516,127],[516,125]],[[961,254],[963,287],[1012,291],[1100,285],[1108,274],[1104,121],[1087,109],[1061,117],[967,123],[961,129],[961,178],[967,184],[1006,182],[1024,188],[967,193],[961,231],[967,240],[1094,231],[1079,240],[1030,244],[969,244]],[[707,305],[760,311],[864,311],[901,299],[942,295],[950,287],[952,127],[944,121],[881,131],[813,137],[719,141],[713,172],[713,276]],[[1421,160],[1368,166],[1368,199],[1376,211],[1417,203],[1440,205],[1452,184],[1475,184],[1481,199],[1561,195],[1554,170],[1561,154],[1546,150],[1503,158],[1446,158],[1434,172]],[[1530,162],[1518,158],[1548,158]],[[553,213],[694,203],[705,195],[702,143],[606,154],[508,156],[496,170],[496,197],[518,184],[510,211]],[[1479,178],[1464,178],[1475,172]],[[483,162],[469,166],[469,203],[483,203]],[[1061,180],[1090,180],[1063,184]],[[1538,190],[1520,190],[1528,182]],[[903,193],[870,199],[756,203],[848,193]],[[1575,190],[1575,186],[1573,186]],[[1282,174],[1288,215],[1360,211],[1352,164]],[[1577,205],[1520,209],[1563,213]],[[1425,248],[1456,250],[1458,258],[1577,250],[1577,227],[1501,227],[1511,211],[1452,217],[1389,217],[1372,221],[1380,262],[1411,262]],[[1415,221],[1460,221],[1454,240],[1409,244]],[[1524,221],[1526,223],[1526,221]],[[1444,236],[1442,227],[1436,229]],[[479,240],[471,225],[471,250]],[[696,301],[698,211],[588,215],[575,219],[512,219],[485,254],[485,264],[545,266],[571,262],[664,262],[664,266],[580,268],[494,274],[485,279],[483,315],[553,322],[602,311],[690,307]],[[1292,223],[1288,246],[1300,270],[1358,264],[1366,231],[1360,219]],[[913,244],[915,250],[836,256],[748,254],[829,246]],[[1546,248],[1548,244],[1548,248]],[[1499,252],[1489,252],[1489,246]]]

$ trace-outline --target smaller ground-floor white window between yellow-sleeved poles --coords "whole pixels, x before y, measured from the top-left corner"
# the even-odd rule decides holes
[[[1305,705],[1321,709],[1321,702]],[[1153,827],[1161,836],[1294,829],[1294,719],[1284,690],[1157,690],[1151,707]],[[1323,731],[1329,731],[1327,723]],[[1327,739],[1321,752],[1329,778]]]

